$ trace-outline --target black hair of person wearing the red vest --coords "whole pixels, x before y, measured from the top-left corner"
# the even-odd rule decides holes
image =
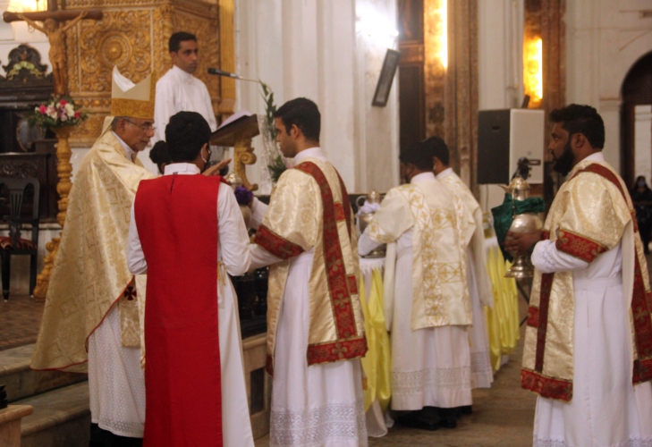
[[[210,141],[210,127],[197,112],[179,112],[165,127],[165,141],[173,163],[192,163]]]

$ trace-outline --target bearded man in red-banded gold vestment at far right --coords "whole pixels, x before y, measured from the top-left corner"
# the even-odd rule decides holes
[[[521,384],[537,392],[534,445],[652,445],[652,299],[631,198],[605,162],[595,108],[550,114],[557,192],[534,247]],[[535,245],[536,244],[536,245]]]

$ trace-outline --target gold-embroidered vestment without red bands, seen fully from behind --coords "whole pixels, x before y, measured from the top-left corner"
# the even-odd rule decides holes
[[[394,242],[413,230],[413,331],[471,324],[465,235],[472,220],[465,216],[460,198],[433,176],[387,191],[368,225],[369,239],[380,243]]]

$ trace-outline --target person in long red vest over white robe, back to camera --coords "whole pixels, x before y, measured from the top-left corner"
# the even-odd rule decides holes
[[[164,248],[168,253],[174,251],[174,244],[180,243],[183,240],[183,235],[180,234],[172,239],[165,239],[164,235],[156,240],[152,240],[152,235],[155,235],[156,232],[170,233],[174,229],[179,228],[189,230],[192,224],[196,224],[200,228],[199,232],[201,234],[193,233],[191,238],[198,240],[199,246],[206,248],[199,250],[191,247],[192,254],[185,253],[184,256],[179,253],[181,250],[177,249],[176,253],[178,256],[176,258],[174,256],[164,256],[163,262],[165,263],[165,269],[168,271],[182,271],[182,265],[190,265],[191,263],[198,263],[199,266],[193,267],[190,273],[186,274],[184,278],[179,279],[176,283],[169,283],[174,281],[174,274],[167,274],[168,272],[166,271],[164,274],[153,276],[154,274],[150,268],[150,275],[148,276],[148,291],[150,293],[148,293],[149,299],[145,309],[146,312],[148,310],[152,312],[155,306],[157,308],[162,306],[172,307],[173,305],[171,303],[160,302],[163,299],[171,301],[169,294],[165,296],[165,293],[160,293],[161,288],[164,291],[174,291],[176,287],[183,291],[191,288],[189,282],[192,284],[199,283],[200,281],[207,282],[202,285],[208,285],[211,281],[210,274],[216,275],[216,278],[213,280],[213,287],[215,289],[210,291],[204,288],[204,295],[208,295],[207,299],[212,300],[215,299],[212,293],[216,293],[216,301],[212,301],[215,308],[209,306],[210,303],[207,305],[204,302],[204,306],[199,311],[196,308],[197,305],[183,306],[181,304],[176,312],[167,317],[166,324],[163,325],[162,329],[158,327],[161,323],[161,321],[157,320],[158,313],[157,316],[145,317],[145,335],[152,337],[152,334],[156,334],[154,331],[158,331],[158,335],[153,342],[164,344],[164,346],[158,346],[156,349],[162,352],[163,356],[167,359],[167,361],[161,361],[160,358],[157,358],[156,369],[153,371],[148,371],[147,367],[155,367],[154,361],[148,360],[146,362],[148,406],[154,405],[157,401],[175,401],[175,405],[179,406],[179,408],[174,409],[175,405],[155,405],[155,408],[151,410],[148,407],[148,418],[152,420],[148,419],[146,421],[145,443],[146,445],[159,445],[161,443],[169,443],[170,445],[195,445],[198,443],[208,443],[207,439],[210,439],[211,444],[221,441],[225,447],[253,447],[249,406],[247,404],[247,388],[242,361],[237,300],[235,291],[233,290],[233,284],[231,283],[231,277],[229,276],[244,274],[250,266],[249,235],[242,218],[240,207],[235,199],[233,190],[228,184],[220,182],[218,178],[215,178],[213,183],[218,183],[218,188],[216,194],[212,197],[210,194],[197,191],[200,188],[208,190],[207,188],[209,187],[207,179],[199,175],[204,170],[207,159],[210,156],[210,148],[208,147],[210,131],[207,122],[197,113],[181,112],[171,118],[167,125],[165,135],[168,154],[171,157],[172,163],[165,165],[164,177],[171,184],[168,186],[163,178],[156,180],[157,182],[165,183],[162,185],[163,191],[160,191],[160,189],[154,190],[158,192],[157,196],[161,198],[164,205],[158,208],[160,211],[148,211],[148,203],[143,203],[146,199],[141,198],[146,192],[145,186],[147,185],[145,185],[145,182],[141,182],[136,200],[131,207],[129,245],[127,246],[129,269],[132,274],[147,274],[149,262],[157,266],[160,272],[162,267],[160,266],[161,258],[159,248]],[[216,172],[216,169],[213,168],[211,171]],[[191,179],[185,176],[199,176],[199,178],[194,177]],[[184,183],[182,179],[187,179],[188,181],[193,180],[193,182],[188,184],[189,182],[185,181]],[[174,182],[175,180],[177,181]],[[152,182],[155,181],[149,182],[149,188],[153,188]],[[151,189],[148,190],[150,193],[152,191]],[[173,192],[176,194],[176,203],[183,203],[185,201],[195,208],[189,210],[187,215],[174,217],[174,209],[165,207],[166,204],[174,203]],[[189,198],[189,196],[194,196],[194,198]],[[193,203],[198,200],[199,205]],[[157,201],[151,198],[151,195],[148,196],[148,201],[157,204]],[[211,204],[209,202],[213,203]],[[140,205],[140,209],[137,209],[138,205]],[[214,215],[216,227],[212,229],[206,228],[205,225],[206,222],[210,221],[210,216],[206,216],[206,220],[196,217],[196,215],[206,213],[210,210],[211,205],[214,207],[214,210],[216,208],[216,214]],[[136,218],[138,212],[140,212],[140,221]],[[157,212],[163,215],[163,217],[159,219]],[[169,219],[167,216],[170,216]],[[194,222],[188,223],[184,221],[184,219],[189,218],[188,216],[191,216]],[[202,227],[204,230],[201,230]],[[143,238],[141,238],[141,234],[145,234],[144,240],[149,242],[149,245],[146,247],[146,249],[149,249],[149,252],[143,249],[145,244],[142,242]],[[216,250],[216,253],[210,251],[209,247],[207,247],[208,240],[214,242],[215,246],[213,250]],[[209,256],[206,256],[206,252],[209,253]],[[215,255],[216,257],[214,257]],[[192,275],[197,274],[200,266],[205,266],[206,271],[202,276],[206,277],[193,279]],[[216,266],[218,266],[217,272]],[[220,272],[219,270],[222,271]],[[154,284],[151,283],[152,281],[160,282],[159,293],[155,293]],[[178,296],[175,296],[176,298],[183,299]],[[198,303],[202,302],[200,298],[206,299],[206,297],[201,297],[199,292],[195,293],[194,297],[188,296],[186,298],[194,299]],[[157,299],[158,302],[154,301],[154,299]],[[191,313],[188,308],[193,308],[194,313]],[[187,313],[184,314],[184,310]],[[212,318],[207,322],[201,320],[198,313],[210,315],[213,311],[216,311],[217,333],[211,333],[210,331],[199,332],[201,327],[212,327],[215,321]],[[191,342],[188,342],[186,347],[177,346],[177,349],[174,350],[175,343],[182,343],[182,341],[177,340],[179,337],[175,333],[184,334],[180,330],[180,327],[182,327],[184,320],[186,322],[188,321],[188,318],[194,321],[194,323],[190,323],[191,326],[194,325],[190,334]],[[204,326],[199,325],[200,320],[204,323]],[[210,351],[215,350],[216,347],[210,342],[216,339],[218,339],[219,356],[218,358],[212,359],[210,357]],[[187,339],[185,340],[187,341]],[[146,342],[149,343],[151,341],[146,339]],[[191,348],[198,345],[202,351],[191,352]],[[153,351],[154,349],[151,350]],[[184,356],[191,356],[191,358],[186,358],[186,361],[205,362],[203,364],[204,370],[198,371],[195,377],[189,373],[187,376],[188,383],[165,381],[167,375],[173,375],[171,371],[174,372],[175,367],[179,367],[181,370],[186,368],[190,371],[188,369],[189,366],[182,361]],[[213,381],[217,382],[216,377],[219,377],[209,367],[209,361],[211,359],[219,366],[217,369],[221,372],[221,390],[211,390],[209,386],[209,383]],[[201,369],[201,367],[198,369]],[[179,370],[177,370],[178,372]],[[192,384],[193,378],[197,379],[196,375],[199,374],[205,377],[206,383]],[[152,390],[149,389],[150,384],[152,385]],[[219,384],[220,382],[217,382],[216,385]],[[156,388],[154,385],[156,385]],[[213,392],[221,391],[221,399],[213,399],[213,395],[208,390]],[[195,394],[193,394],[193,391]],[[209,401],[202,401],[202,399],[209,399]],[[182,405],[186,405],[186,407],[182,408]],[[182,411],[185,417],[179,417],[180,411]],[[193,416],[192,411],[199,412],[199,415]],[[219,437],[220,433],[217,430],[219,426],[217,421],[202,420],[202,417],[205,417],[203,413],[213,416],[218,411],[222,413],[221,439]],[[157,415],[156,419],[154,419],[155,412]],[[162,422],[162,420],[165,422]]]

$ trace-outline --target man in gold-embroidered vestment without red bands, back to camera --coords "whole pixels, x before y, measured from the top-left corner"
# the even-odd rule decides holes
[[[387,191],[360,236],[365,255],[396,243],[391,323],[392,409],[402,425],[453,428],[456,408],[471,405],[471,324],[464,235],[473,223],[433,173],[432,154],[413,143],[399,156],[405,184]],[[388,250],[391,251],[391,250]]]

